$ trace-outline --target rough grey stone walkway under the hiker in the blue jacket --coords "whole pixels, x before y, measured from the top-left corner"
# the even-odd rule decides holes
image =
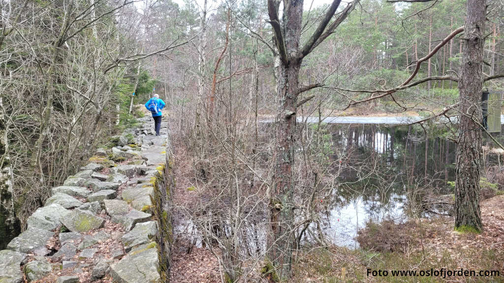
[[[27,230],[0,251],[0,283],[120,282],[160,279],[159,226],[151,212],[154,175],[165,163],[161,136],[151,118],[115,137],[89,164],[54,187]]]

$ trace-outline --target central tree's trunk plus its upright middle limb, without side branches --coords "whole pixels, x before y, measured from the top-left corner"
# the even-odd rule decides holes
[[[288,63],[280,60],[277,79],[278,109],[275,118],[275,167],[270,192],[271,233],[268,238],[268,260],[278,279],[288,278],[291,272],[294,247],[294,143],[296,104],[301,58],[292,56],[299,49],[302,21],[302,1],[291,1],[284,11],[283,27]],[[277,10],[278,11],[278,10]],[[287,28],[288,27],[288,28]]]

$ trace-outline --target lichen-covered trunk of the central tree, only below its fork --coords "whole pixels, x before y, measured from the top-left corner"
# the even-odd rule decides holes
[[[294,244],[294,143],[296,126],[295,89],[300,65],[280,65],[278,97],[275,119],[275,175],[270,192],[271,231],[268,259],[277,269],[280,278],[290,274]]]

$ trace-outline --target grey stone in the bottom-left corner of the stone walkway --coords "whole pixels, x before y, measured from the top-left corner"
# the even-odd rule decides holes
[[[0,251],[0,282],[21,283],[23,282],[23,272],[19,268],[26,263],[28,255],[11,250]]]

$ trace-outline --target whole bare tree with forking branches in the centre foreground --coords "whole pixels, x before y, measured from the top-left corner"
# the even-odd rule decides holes
[[[300,46],[303,1],[284,2],[282,20],[279,0],[268,0],[270,24],[280,57],[277,79],[277,114],[275,117],[274,176],[270,191],[270,231],[268,235],[268,270],[272,279],[287,279],[291,274],[294,249],[294,142],[298,97],[301,93],[321,86],[320,83],[299,85],[299,70],[303,58],[323,42],[346,19],[358,3],[347,5],[332,22],[340,0],[334,0],[319,26]]]

